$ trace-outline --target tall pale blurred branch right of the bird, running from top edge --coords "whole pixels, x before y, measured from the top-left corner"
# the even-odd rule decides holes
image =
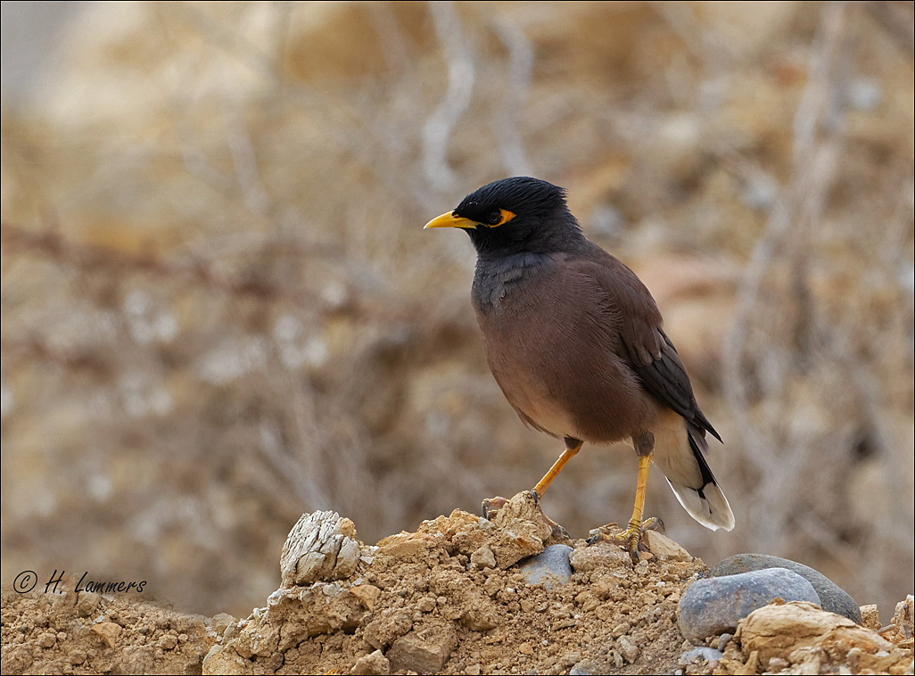
[[[797,424],[796,396],[791,395],[790,388],[802,366],[798,359],[810,348],[807,343],[813,335],[815,312],[806,290],[806,242],[822,218],[823,201],[839,166],[845,81],[851,70],[847,64],[851,54],[847,28],[852,11],[852,6],[843,3],[823,5],[809,78],[794,117],[791,182],[777,200],[750,255],[737,295],[734,325],[724,347],[727,401],[742,430],[746,457],[759,477],[755,491],[758,507],[754,511],[766,514],[770,526],[791,528],[791,511],[778,507],[794,504],[789,492],[801,488],[801,469],[823,443],[813,438],[806,426]],[[777,262],[789,263],[791,284],[776,287],[776,291],[769,283]],[[779,297],[765,298],[764,290]],[[760,318],[771,316],[773,303],[782,315],[793,308],[796,320],[788,333],[779,335],[778,327],[759,324]],[[819,356],[816,349],[813,354],[814,359]],[[759,398],[774,406],[756,408],[750,401],[748,380],[754,368],[761,388]],[[775,537],[778,531],[776,525],[769,532]]]

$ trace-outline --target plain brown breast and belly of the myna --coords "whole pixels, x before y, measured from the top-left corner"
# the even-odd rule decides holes
[[[612,443],[649,429],[659,406],[619,355],[619,308],[563,264],[526,271],[477,306],[490,370],[522,420],[554,436]]]

